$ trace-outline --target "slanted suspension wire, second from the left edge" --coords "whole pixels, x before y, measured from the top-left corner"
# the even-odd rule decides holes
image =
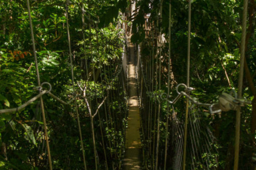
[[[74,83],[73,61],[72,61],[72,52],[71,52],[69,22],[68,22],[68,4],[66,4],[66,20],[67,20],[67,39],[68,39],[68,48],[69,48],[70,65],[71,65],[71,77],[72,77],[73,95],[75,96],[75,83]],[[84,169],[87,170],[86,161],[85,161],[85,155],[84,155],[83,137],[82,137],[82,132],[81,132],[81,125],[80,125],[80,119],[79,119],[79,112],[78,112],[78,106],[77,106],[76,100],[75,100],[75,107],[76,107],[77,124],[78,124],[78,129],[79,129],[79,137],[80,137],[80,141],[81,141],[81,150],[82,150],[82,154],[83,154]]]

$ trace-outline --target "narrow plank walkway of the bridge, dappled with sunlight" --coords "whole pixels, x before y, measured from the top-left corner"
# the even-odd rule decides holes
[[[130,43],[128,48],[129,113],[128,127],[125,136],[125,159],[123,161],[123,170],[141,170],[142,149],[140,141],[140,109],[137,97],[134,45]]]

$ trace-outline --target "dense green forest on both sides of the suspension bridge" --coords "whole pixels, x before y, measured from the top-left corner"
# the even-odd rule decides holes
[[[170,2],[171,20],[169,20]],[[159,77],[154,78],[157,78],[156,75],[161,75],[162,92],[167,92],[168,85],[168,28],[171,22],[170,94],[172,97],[176,96],[176,85],[186,82],[187,1],[140,0],[136,2],[134,15],[131,15],[130,5],[131,2],[128,0],[71,0],[68,3],[65,0],[30,1],[41,82],[49,82],[52,85],[52,93],[64,101],[72,99],[74,94],[81,94],[79,85],[81,88],[86,85],[87,96],[78,97],[76,102],[79,108],[86,166],[89,170],[96,167],[120,169],[122,164],[127,96],[123,88],[126,85],[125,73],[120,69],[125,45],[121,13],[127,17],[125,23],[128,23],[128,31],[129,26],[132,25],[131,41],[140,43],[144,65],[153,63],[153,68],[156,69],[157,57],[158,64],[159,60],[161,61],[160,73],[157,69],[154,70],[154,73],[152,72],[154,77],[151,76],[148,82],[151,82],[150,84],[154,82],[156,85]],[[240,0],[192,0],[190,80],[191,87],[196,90],[192,91],[191,95],[199,101],[216,102],[222,91],[229,92],[232,88],[237,91],[242,6]],[[69,17],[75,91],[71,79],[66,9]],[[243,96],[252,100],[252,105],[247,105],[241,112],[239,159],[241,170],[254,169],[256,159],[253,156],[256,153],[255,13],[256,0],[249,0]],[[148,20],[145,19],[147,14]],[[83,15],[84,19],[82,19]],[[145,30],[145,20],[150,26],[150,31]],[[0,109],[16,108],[38,94],[26,2],[0,0],[0,26]],[[163,35],[162,40],[165,39],[161,43],[157,42],[160,33]],[[157,39],[153,40],[153,35]],[[153,50],[155,55],[151,59]],[[160,51],[158,55],[156,51]],[[44,88],[47,88],[47,85]],[[159,93],[158,90],[156,88],[156,91],[153,91]],[[83,169],[75,102],[71,105],[62,105],[48,95],[44,95],[43,99],[53,169]],[[99,113],[92,121],[88,108],[95,113],[104,100]],[[185,99],[182,99],[175,105],[177,113],[185,112],[184,102]],[[173,127],[171,123],[167,127],[169,133],[166,133],[166,117],[172,119],[172,116],[167,116],[171,113],[171,109],[168,111],[166,106],[166,102],[161,103],[159,169],[164,168],[166,136],[169,139],[167,152],[169,168],[172,167],[174,154],[171,140],[173,134],[170,133]],[[158,109],[158,104],[154,107]],[[40,102],[36,101],[22,111],[0,114],[0,169],[48,168],[40,108]],[[192,111],[196,109],[198,108],[191,108]],[[221,118],[215,117],[215,119],[212,119],[208,111],[201,113],[204,118],[201,121],[202,126],[208,126],[216,139],[214,148],[218,151],[209,156],[212,158],[209,160],[211,167],[218,170],[232,169],[235,111],[223,112]],[[180,120],[184,119],[183,114],[178,114],[178,117]],[[94,127],[91,126],[91,122]],[[146,131],[143,128],[142,133]],[[150,129],[150,133],[155,133],[155,130]],[[95,142],[92,131],[95,133]],[[152,161],[154,161],[149,154],[151,148],[147,147],[153,142],[152,140],[143,140],[143,163],[148,169],[152,169]],[[96,150],[93,149],[94,146]],[[189,165],[190,163],[188,162]],[[204,169],[200,162],[196,168]]]

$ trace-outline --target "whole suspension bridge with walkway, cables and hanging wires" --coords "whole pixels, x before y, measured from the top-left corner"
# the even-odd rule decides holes
[[[251,102],[242,97],[242,82],[243,82],[243,61],[244,61],[244,41],[246,30],[246,17],[243,17],[243,34],[241,36],[241,65],[239,76],[239,91],[231,91],[230,94],[223,93],[218,98],[218,102],[203,103],[195,99],[192,95],[192,91],[195,88],[190,87],[190,27],[191,27],[191,0],[189,0],[189,20],[188,20],[188,48],[187,48],[187,79],[186,84],[180,83],[177,85],[171,85],[171,64],[168,63],[168,84],[167,91],[161,89],[161,48],[163,44],[161,31],[157,32],[155,37],[154,32],[151,34],[150,29],[146,28],[147,37],[151,38],[151,42],[148,42],[153,46],[150,55],[146,57],[141,56],[141,46],[139,44],[132,44],[130,37],[126,37],[125,22],[120,23],[120,27],[124,30],[124,45],[123,54],[119,60],[113,61],[114,68],[108,68],[113,71],[111,81],[107,82],[104,87],[103,95],[97,97],[96,92],[88,94],[88,84],[81,84],[75,82],[73,73],[73,54],[70,42],[69,32],[69,20],[68,9],[66,12],[67,18],[67,37],[68,37],[68,51],[70,57],[70,71],[73,86],[73,98],[69,101],[64,101],[59,96],[53,94],[54,88],[49,82],[41,83],[38,69],[37,54],[35,48],[33,25],[30,14],[29,0],[27,0],[29,23],[33,45],[33,55],[35,59],[35,67],[37,72],[38,87],[36,90],[38,94],[32,99],[29,99],[23,105],[17,108],[9,108],[0,110],[0,113],[12,113],[22,111],[31,103],[36,100],[40,101],[41,113],[44,123],[44,135],[47,144],[47,164],[49,169],[52,167],[51,150],[49,142],[49,136],[47,132],[47,119],[44,111],[44,99],[43,96],[48,96],[55,99],[56,102],[60,102],[62,105],[73,105],[76,111],[76,119],[79,131],[79,139],[81,142],[81,154],[84,169],[87,170],[87,158],[84,153],[83,144],[83,131],[81,130],[81,123],[79,119],[79,105],[77,99],[83,100],[85,107],[88,110],[90,116],[91,138],[93,139],[93,154],[95,170],[100,169],[98,167],[99,158],[103,159],[105,169],[123,169],[123,170],[158,170],[163,168],[164,170],[186,170],[186,169],[204,169],[204,170],[218,170],[218,167],[212,166],[218,162],[218,148],[216,147],[217,139],[212,133],[207,123],[204,121],[207,119],[204,113],[207,111],[213,118],[221,116],[221,112],[224,111],[236,111],[236,145],[234,154],[234,170],[238,170],[239,163],[239,132],[240,132],[240,110],[245,105],[250,105]],[[83,10],[83,7],[80,7]],[[160,16],[161,16],[160,7]],[[247,14],[247,0],[244,0],[244,16]],[[171,4],[170,4],[170,19],[171,19]],[[82,20],[84,24],[84,12],[82,14]],[[161,22],[161,17],[159,22]],[[157,23],[158,25],[159,23]],[[146,25],[146,24],[145,24]],[[169,33],[171,32],[171,24],[169,24]],[[169,34],[171,35],[171,34]],[[83,37],[84,38],[84,37]],[[169,40],[171,37],[169,36]],[[171,46],[169,43],[169,59],[170,62]],[[87,77],[89,74],[87,69]],[[105,72],[106,76],[107,73]],[[95,73],[93,70],[93,78]],[[101,77],[102,81],[104,76]],[[95,80],[95,79],[94,79]],[[96,80],[95,80],[96,81]],[[103,85],[102,85],[103,86]],[[103,87],[102,87],[103,88]],[[172,89],[171,89],[172,88]],[[77,91],[79,89],[79,91]],[[171,90],[174,90],[171,96]],[[120,93],[123,91],[124,93]],[[114,94],[118,92],[118,95]],[[122,94],[121,96],[119,94]],[[119,103],[120,113],[125,113],[124,116],[116,115],[111,111],[110,105],[113,105],[111,101],[113,98],[117,98]],[[92,100],[96,100],[96,106],[91,104]],[[124,102],[125,108],[120,106]],[[163,103],[167,103],[167,107],[163,108]],[[175,104],[179,103],[184,105],[183,110],[177,111]],[[103,108],[103,109],[102,109]],[[126,113],[126,111],[128,112]],[[101,117],[99,112],[104,112],[105,117]],[[110,115],[108,115],[110,114]],[[94,124],[95,119],[99,121],[101,136],[102,136],[102,149],[104,150],[104,156],[97,155],[97,148],[95,144]],[[103,124],[103,120],[111,119],[111,124]],[[123,120],[127,120],[127,125],[123,126]],[[108,121],[107,121],[108,122]],[[112,123],[116,122],[116,123]],[[103,126],[113,131],[120,130],[125,136],[125,142],[119,153],[116,150],[108,152],[107,147],[115,147],[116,141],[105,141],[103,138]],[[164,146],[160,146],[160,141]],[[99,146],[98,146],[99,147]],[[159,148],[165,148],[160,150]],[[110,160],[115,161],[110,161]]]

